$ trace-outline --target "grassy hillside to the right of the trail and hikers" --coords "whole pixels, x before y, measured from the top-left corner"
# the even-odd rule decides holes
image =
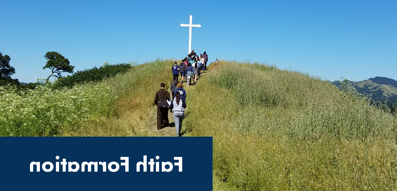
[[[184,122],[187,135],[214,137],[214,189],[395,189],[397,118],[389,112],[305,73],[210,66]]]

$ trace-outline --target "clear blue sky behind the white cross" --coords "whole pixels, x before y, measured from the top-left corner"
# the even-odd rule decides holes
[[[277,63],[331,81],[397,80],[397,1],[25,1],[0,0],[0,52],[13,78],[34,82],[48,51],[75,71],[103,62],[187,55]]]

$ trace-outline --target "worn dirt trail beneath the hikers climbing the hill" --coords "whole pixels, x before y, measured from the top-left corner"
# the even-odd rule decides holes
[[[202,75],[205,75],[205,73],[206,73],[206,71],[204,71],[204,73],[202,73]],[[202,77],[202,75],[200,76],[200,78]],[[199,83],[198,79],[197,79],[197,83]],[[183,86],[184,86],[183,89],[185,89],[187,95],[189,95],[189,91],[191,89],[195,88],[195,84],[193,83],[193,80],[192,80],[192,84],[193,85],[189,85],[189,87],[187,87],[186,81],[183,82]],[[168,89],[168,91],[170,91],[170,90]],[[187,96],[187,99],[189,99],[189,96]],[[187,106],[187,107],[189,107],[189,106]],[[187,108],[187,110],[188,110],[188,108]],[[153,106],[150,109],[150,113],[149,113],[150,120],[147,120],[147,124],[145,125],[146,126],[145,130],[147,131],[147,136],[152,136],[152,137],[175,137],[176,136],[176,132],[175,132],[175,122],[173,120],[173,113],[168,111],[168,120],[170,122],[170,125],[158,130],[157,129],[157,118],[154,119],[154,116],[156,115],[156,111],[157,111],[156,106]]]

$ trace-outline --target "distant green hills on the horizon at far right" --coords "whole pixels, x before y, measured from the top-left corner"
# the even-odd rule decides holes
[[[339,81],[331,82],[341,87]],[[348,81],[348,87],[357,89],[357,93],[371,95],[375,101],[397,103],[397,81],[387,77],[374,77],[363,81]]]

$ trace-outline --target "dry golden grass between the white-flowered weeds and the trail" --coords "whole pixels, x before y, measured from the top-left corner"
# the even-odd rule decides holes
[[[147,124],[153,120],[150,112],[154,95],[165,83],[170,89],[173,60],[160,60],[141,64],[133,70],[106,80],[117,96],[114,115],[95,118],[69,136],[146,136]]]

